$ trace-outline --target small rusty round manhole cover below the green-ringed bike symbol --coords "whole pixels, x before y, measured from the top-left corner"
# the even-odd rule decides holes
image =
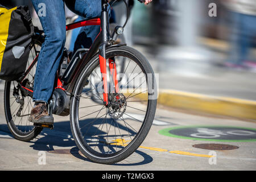
[[[219,144],[219,143],[201,143],[201,144],[194,144],[192,147],[195,148],[202,148],[207,150],[234,150],[239,147],[232,146],[230,144]]]

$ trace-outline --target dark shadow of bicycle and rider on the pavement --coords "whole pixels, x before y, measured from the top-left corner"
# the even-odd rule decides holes
[[[87,119],[87,120],[89,120],[89,122],[90,122],[91,119]],[[86,122],[88,122],[88,121],[86,121]],[[92,131],[92,132],[95,130],[93,127],[92,127],[92,129],[90,129],[90,131]],[[9,136],[13,137],[6,124],[0,125],[0,134],[1,135],[9,135]],[[78,152],[79,149],[77,148],[76,143],[73,140],[69,121],[56,122],[54,124],[53,130],[43,129],[42,132],[38,135],[38,137],[36,137],[34,140],[31,140],[29,143],[32,143],[30,147],[32,147],[34,150],[38,150],[38,151],[53,151],[54,147],[57,147],[58,149],[61,147],[72,147],[70,150],[71,151],[70,153],[73,156],[75,156],[76,158],[79,158],[81,160],[90,162],[89,159],[85,158],[84,155],[80,155],[80,152]],[[72,152],[72,151],[77,151],[77,152]],[[138,166],[138,165],[151,163],[152,160],[153,159],[150,155],[147,155],[146,153],[144,153],[142,151],[136,150],[127,159],[123,160],[122,162],[119,162],[117,164],[112,164],[112,165],[114,165],[114,166]]]

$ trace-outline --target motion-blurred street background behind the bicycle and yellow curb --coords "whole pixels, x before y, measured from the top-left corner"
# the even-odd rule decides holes
[[[256,100],[255,0],[153,0],[147,6],[126,1],[133,8],[125,42],[159,73],[160,89]],[[0,2],[30,6],[40,27],[30,0]],[[125,5],[117,3],[113,10],[122,25]],[[66,14],[67,23],[81,18],[68,9]],[[66,47],[72,49],[76,34],[68,34]]]

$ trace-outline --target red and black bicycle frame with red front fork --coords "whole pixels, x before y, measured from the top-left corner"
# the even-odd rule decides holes
[[[92,58],[92,56],[95,55],[95,53],[98,52],[99,60],[100,60],[100,70],[101,70],[101,76],[102,81],[104,84],[104,103],[105,105],[108,105],[108,86],[107,86],[107,76],[106,76],[106,47],[108,47],[109,43],[109,36],[107,31],[108,26],[108,0],[102,0],[101,1],[102,11],[101,11],[101,17],[100,18],[92,18],[92,19],[85,19],[81,20],[79,22],[67,24],[66,31],[72,30],[74,28],[79,28],[83,26],[101,26],[100,32],[97,35],[96,39],[94,40],[92,46],[90,47],[89,51],[82,57],[81,60],[79,60],[79,63],[75,68],[72,68],[73,70],[66,70],[67,74],[65,77],[57,78],[57,86],[55,88],[60,88],[63,90],[67,90],[67,92],[72,92],[73,86],[75,85],[76,79],[79,77],[82,69],[85,67],[86,63]],[[30,72],[30,69],[35,65],[36,61],[38,59],[35,59],[30,67],[25,72],[24,76],[20,78],[20,80],[24,80],[24,78],[27,76],[28,72]],[[71,63],[69,63],[71,64]],[[117,80],[117,70],[115,68],[115,61],[109,59],[109,68],[110,68],[110,74],[113,77],[114,85],[115,85],[115,92],[118,92],[118,80]],[[65,72],[65,73],[66,73]],[[64,74],[65,74],[64,73]],[[21,82],[22,82],[21,81]],[[67,89],[63,88],[63,83],[65,85],[68,85]],[[22,88],[26,89],[29,92],[32,92],[32,90],[29,90],[22,86]]]

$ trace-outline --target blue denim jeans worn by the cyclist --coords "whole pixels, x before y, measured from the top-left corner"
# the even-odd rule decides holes
[[[32,0],[32,3],[46,35],[36,67],[33,101],[48,103],[66,39],[64,1]],[[101,0],[67,0],[65,3],[74,13],[85,18],[94,18],[101,14]],[[100,26],[82,27],[74,51],[89,48],[99,32]]]

